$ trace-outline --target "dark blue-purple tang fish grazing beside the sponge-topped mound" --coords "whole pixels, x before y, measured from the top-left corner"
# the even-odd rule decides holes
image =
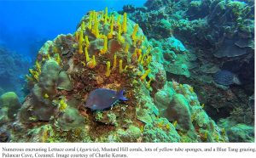
[[[124,90],[119,92],[113,91],[106,88],[97,88],[96,90],[90,92],[85,107],[91,110],[104,110],[112,107],[117,101],[126,101],[124,97]]]

